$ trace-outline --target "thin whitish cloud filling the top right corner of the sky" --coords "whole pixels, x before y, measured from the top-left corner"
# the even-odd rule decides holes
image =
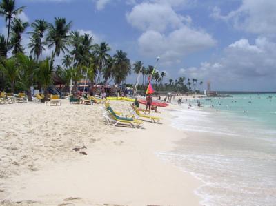
[[[218,7],[213,9],[212,17],[230,21],[239,30],[255,34],[275,34],[276,1],[243,0],[242,5],[227,15],[221,15]]]

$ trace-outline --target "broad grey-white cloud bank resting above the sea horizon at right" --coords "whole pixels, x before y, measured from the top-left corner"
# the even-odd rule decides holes
[[[181,68],[179,74],[212,81],[220,89],[276,90],[276,44],[264,37],[254,44],[240,39],[224,50],[223,58],[197,68]]]

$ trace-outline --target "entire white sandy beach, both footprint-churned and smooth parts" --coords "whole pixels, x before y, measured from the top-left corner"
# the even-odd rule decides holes
[[[170,127],[174,106],[139,130],[108,127],[102,106],[1,105],[1,205],[199,205],[199,181],[156,156],[185,135]]]

